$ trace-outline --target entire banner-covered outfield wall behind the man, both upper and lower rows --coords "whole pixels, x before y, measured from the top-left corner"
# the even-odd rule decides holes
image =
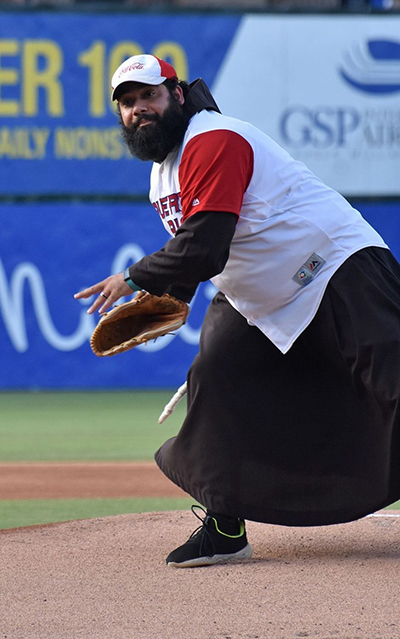
[[[128,157],[110,102],[129,55],[202,76],[343,193],[400,259],[400,16],[0,14],[0,389],[182,383],[213,295],[176,335],[98,359],[73,293],[162,246],[150,167]]]

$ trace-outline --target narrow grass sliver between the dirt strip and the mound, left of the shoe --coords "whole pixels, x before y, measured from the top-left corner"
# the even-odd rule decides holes
[[[0,529],[129,513],[187,510],[190,497],[0,500]]]

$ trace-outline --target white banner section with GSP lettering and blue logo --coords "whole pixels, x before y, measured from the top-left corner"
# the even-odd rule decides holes
[[[400,195],[400,16],[247,15],[213,93],[342,194]]]

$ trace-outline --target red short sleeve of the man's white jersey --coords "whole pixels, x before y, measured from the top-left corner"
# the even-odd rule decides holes
[[[179,166],[182,221],[198,211],[239,215],[253,174],[253,149],[233,131],[207,131],[185,147]]]

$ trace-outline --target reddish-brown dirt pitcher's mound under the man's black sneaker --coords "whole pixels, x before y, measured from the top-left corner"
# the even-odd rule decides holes
[[[251,561],[167,568],[195,526],[170,512],[2,531],[1,638],[400,637],[395,513],[320,528],[250,522]]]

